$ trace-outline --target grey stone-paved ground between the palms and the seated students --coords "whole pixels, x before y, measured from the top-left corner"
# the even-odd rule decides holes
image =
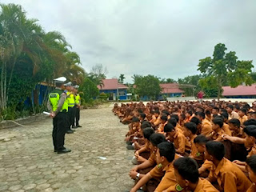
[[[124,191],[133,151],[123,139],[127,126],[111,108],[81,111],[81,125],[66,135],[70,154],[53,151],[52,121],[0,130],[0,191]],[[106,157],[102,160],[98,157]]]

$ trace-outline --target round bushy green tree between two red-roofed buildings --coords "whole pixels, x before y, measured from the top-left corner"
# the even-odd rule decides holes
[[[142,97],[156,99],[162,90],[159,83],[159,79],[154,75],[144,76],[136,84],[136,93]]]

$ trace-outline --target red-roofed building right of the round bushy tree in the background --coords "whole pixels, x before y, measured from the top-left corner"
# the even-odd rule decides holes
[[[165,96],[166,98],[182,97],[184,90],[179,89],[178,83],[165,83],[160,84],[162,88],[160,97]]]

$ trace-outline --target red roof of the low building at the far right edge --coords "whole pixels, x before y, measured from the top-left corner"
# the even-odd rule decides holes
[[[222,86],[222,89],[222,96],[256,95],[256,84],[251,86],[238,86],[235,88]]]

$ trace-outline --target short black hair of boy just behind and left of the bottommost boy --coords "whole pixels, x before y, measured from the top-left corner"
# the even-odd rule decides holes
[[[175,148],[172,142],[161,142],[158,144],[158,150],[160,156],[166,157],[168,162],[174,161]]]

